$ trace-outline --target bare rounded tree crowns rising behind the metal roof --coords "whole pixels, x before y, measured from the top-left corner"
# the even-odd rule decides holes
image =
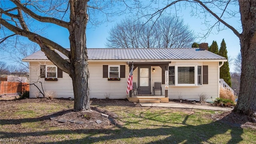
[[[195,40],[194,32],[175,16],[160,17],[145,23],[122,20],[110,29],[107,47],[112,48],[184,48]]]

